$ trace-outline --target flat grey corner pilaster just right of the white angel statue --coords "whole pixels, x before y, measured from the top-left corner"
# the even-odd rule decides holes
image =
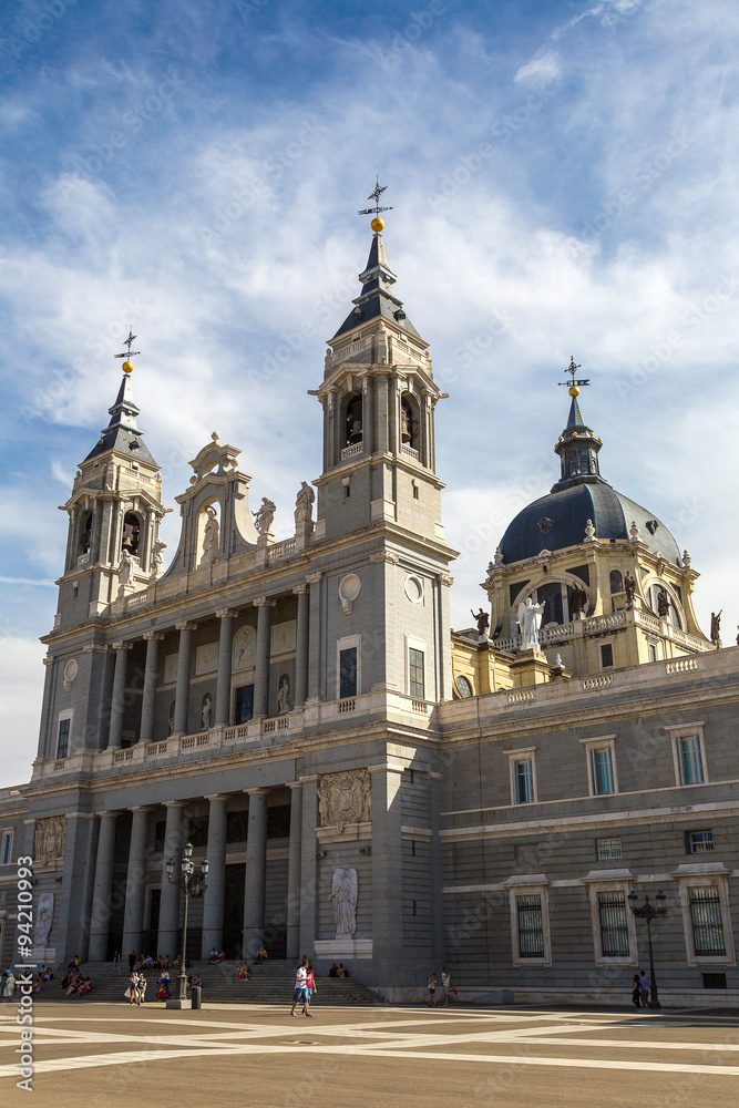
[[[380,979],[392,985],[403,956],[402,769],[370,766],[372,776],[372,961]],[[394,975],[394,979],[393,979]]]

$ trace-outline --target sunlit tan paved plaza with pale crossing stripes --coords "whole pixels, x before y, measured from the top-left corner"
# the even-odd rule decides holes
[[[0,1008],[0,1104],[394,1108],[733,1108],[739,1017],[707,1013],[43,1003],[34,1077],[16,1088]]]

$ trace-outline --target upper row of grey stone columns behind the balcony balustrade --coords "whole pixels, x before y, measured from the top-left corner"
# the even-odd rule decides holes
[[[314,574],[305,584],[292,588],[298,598],[297,634],[296,634],[296,670],[294,687],[294,708],[301,708],[308,698],[309,689],[309,632],[310,609],[318,612],[318,597],[311,604],[311,592],[316,589],[320,574]],[[257,609],[257,643],[254,673],[254,716],[257,718],[269,714],[269,663],[271,640],[271,612],[277,599],[268,596],[254,602]],[[216,677],[216,697],[212,726],[223,727],[230,722],[232,699],[232,650],[234,639],[234,619],[237,611],[223,608],[215,612],[219,620],[218,630],[218,669]],[[175,685],[174,733],[186,735],[188,731],[189,679],[192,667],[193,632],[197,624],[184,620],[175,624],[179,642],[177,650],[177,675]],[[156,707],[156,688],[160,663],[160,643],[164,632],[145,632],[146,660],[144,664],[144,686],[141,699],[140,741],[151,742],[154,739],[154,718]],[[107,748],[119,749],[123,737],[123,720],[126,709],[126,679],[129,669],[129,652],[133,643],[113,643],[115,652],[115,670],[111,695],[110,725]],[[314,695],[317,695],[316,688]]]

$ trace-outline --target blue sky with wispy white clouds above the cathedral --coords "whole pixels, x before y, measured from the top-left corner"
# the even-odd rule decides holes
[[[738,30],[731,0],[2,6],[0,786],[31,771],[58,505],[129,326],[166,505],[215,430],[286,537],[377,175],[396,288],[449,392],[453,625],[556,479],[574,355],[603,475],[689,550],[699,620],[722,608],[733,642]]]

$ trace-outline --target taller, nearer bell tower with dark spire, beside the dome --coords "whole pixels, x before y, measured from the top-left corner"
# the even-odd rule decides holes
[[[329,340],[324,381],[311,393],[324,409],[316,537],[382,521],[443,540],[434,409],[445,393],[433,380],[429,343],[393,288],[378,214],[386,209],[377,205],[382,191],[370,197],[376,217],[361,293]]]

